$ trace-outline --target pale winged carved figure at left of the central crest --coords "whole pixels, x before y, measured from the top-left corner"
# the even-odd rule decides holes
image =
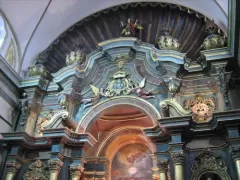
[[[94,93],[94,96],[92,96],[90,98],[87,98],[87,99],[82,99],[81,102],[84,103],[84,108],[83,109],[86,109],[86,108],[88,108],[90,106],[96,105],[100,101],[100,99],[102,97],[106,96],[105,93],[104,93],[104,89],[103,88],[99,89],[99,88],[97,88],[94,85],[90,85],[90,87],[91,87],[91,89],[92,89],[92,91]]]

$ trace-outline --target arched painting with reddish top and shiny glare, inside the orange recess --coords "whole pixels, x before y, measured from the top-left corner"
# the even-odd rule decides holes
[[[113,158],[112,180],[152,180],[151,151],[141,144],[130,144],[120,149]]]

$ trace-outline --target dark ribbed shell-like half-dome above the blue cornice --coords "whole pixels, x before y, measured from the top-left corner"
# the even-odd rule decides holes
[[[172,36],[181,43],[180,52],[196,59],[204,39],[204,16],[187,8],[165,3],[132,3],[112,7],[81,20],[45,51],[41,57],[50,72],[56,72],[66,66],[65,55],[81,43],[86,53],[93,51],[97,43],[120,37],[120,22],[128,18],[138,19],[144,30],[136,37],[143,42],[155,44],[163,28],[171,28]],[[64,23],[64,22],[63,22]],[[46,55],[46,54],[45,54]]]

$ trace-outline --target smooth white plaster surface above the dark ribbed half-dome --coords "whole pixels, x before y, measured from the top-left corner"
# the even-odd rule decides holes
[[[37,54],[46,49],[61,33],[86,16],[115,5],[146,0],[52,0],[47,8],[49,2],[50,0],[0,0],[0,10],[6,16],[20,44],[23,70],[27,70]],[[228,0],[149,2],[166,2],[189,7],[213,19],[225,33],[227,32],[228,18],[225,12]]]

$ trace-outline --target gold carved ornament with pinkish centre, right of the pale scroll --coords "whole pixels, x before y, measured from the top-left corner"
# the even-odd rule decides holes
[[[194,100],[185,100],[184,108],[191,110],[192,119],[196,123],[209,122],[212,119],[213,111],[216,109],[214,98],[196,96]]]

